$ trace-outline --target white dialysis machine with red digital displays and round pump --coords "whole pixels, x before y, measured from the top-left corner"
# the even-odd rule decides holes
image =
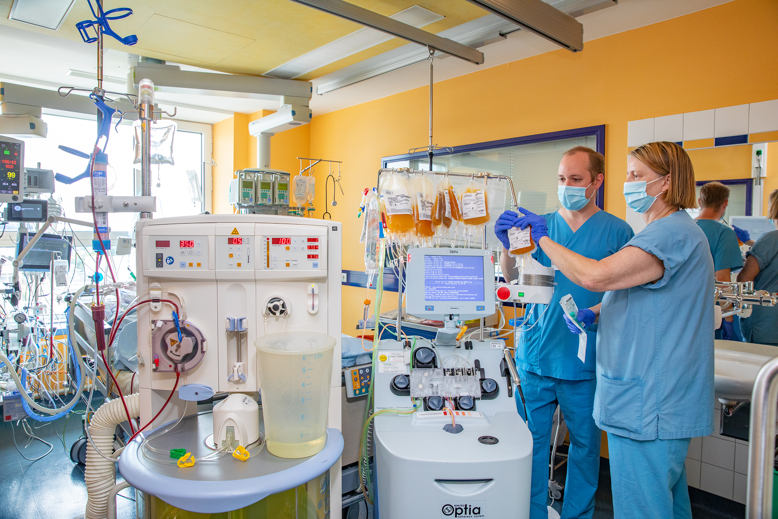
[[[202,400],[216,392],[260,391],[258,336],[318,331],[337,339],[328,427],[340,430],[340,223],[198,215],[142,219],[136,234],[138,299],[159,300],[138,307],[141,423],[162,409],[177,372],[179,387],[187,389],[173,394],[149,430],[180,416],[184,391],[205,395]],[[173,307],[163,300],[180,308],[180,335]],[[339,496],[336,465],[331,492]]]

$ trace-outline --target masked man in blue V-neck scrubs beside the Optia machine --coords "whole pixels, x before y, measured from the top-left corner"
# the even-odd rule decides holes
[[[559,163],[559,202],[562,208],[543,217],[548,236],[587,258],[601,260],[619,251],[634,233],[622,219],[598,208],[598,188],[605,180],[605,157],[593,149],[576,146]],[[506,211],[495,225],[495,233],[509,246],[507,230],[517,213]],[[540,248],[533,257],[552,266]],[[515,259],[506,248],[500,256],[506,281],[517,278]],[[562,519],[589,518],[594,513],[594,493],[600,471],[601,432],[592,418],[596,366],[596,324],[587,331],[586,356],[579,358],[579,340],[571,336],[562,317],[559,300],[571,294],[579,308],[597,305],[602,293],[590,292],[555,272],[554,296],[547,306],[534,305],[525,317],[516,352],[521,387],[527,402],[527,421],[534,440],[532,457],[531,519],[546,519],[548,508],[548,461],[552,418],[559,405],[565,418],[570,447],[567,459]],[[539,322],[538,322],[539,320]],[[537,326],[533,326],[537,324]],[[523,406],[519,405],[524,416]]]

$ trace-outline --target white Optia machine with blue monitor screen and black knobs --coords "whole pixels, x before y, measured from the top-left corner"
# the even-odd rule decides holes
[[[553,271],[544,274],[551,280],[520,278],[527,285],[511,288],[526,293],[499,298],[548,303]],[[513,360],[503,339],[471,340],[455,327],[495,313],[492,252],[409,249],[405,286],[408,314],[444,328],[434,343],[378,345],[375,410],[423,405],[375,418],[380,517],[529,517],[532,436],[513,399]]]

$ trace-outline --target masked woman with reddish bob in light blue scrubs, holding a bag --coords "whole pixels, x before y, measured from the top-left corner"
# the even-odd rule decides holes
[[[555,243],[540,216],[520,209],[517,226],[532,226],[568,279],[605,291],[576,317],[599,319],[593,416],[608,432],[614,517],[691,519],[689,440],[713,432],[714,277],[705,233],[683,210],[696,207],[689,156],[674,142],[634,149],[624,196],[647,226],[600,261]]]

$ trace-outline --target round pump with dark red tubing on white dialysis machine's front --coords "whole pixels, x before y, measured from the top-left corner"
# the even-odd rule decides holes
[[[180,321],[180,336],[176,323],[170,319],[152,321],[152,358],[156,373],[193,370],[205,358],[207,345],[200,328],[189,321]]]

